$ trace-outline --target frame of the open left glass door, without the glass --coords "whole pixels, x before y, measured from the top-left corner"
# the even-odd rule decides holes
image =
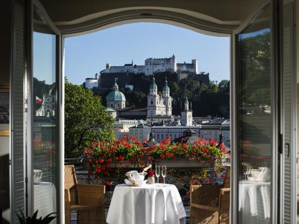
[[[52,32],[56,35],[56,161],[57,161],[57,169],[56,169],[56,178],[57,178],[57,189],[56,189],[56,207],[57,207],[57,223],[62,223],[64,214],[64,204],[63,204],[63,156],[64,151],[63,149],[63,139],[61,139],[61,130],[64,128],[63,123],[63,110],[61,109],[62,104],[62,98],[59,97],[63,94],[61,92],[62,90],[62,82],[63,76],[61,75],[62,66],[61,66],[61,32],[60,30],[54,25],[53,21],[50,19],[49,15],[47,14],[46,10],[42,6],[42,4],[39,2],[39,0],[28,0],[26,5],[26,13],[27,13],[27,33],[26,33],[26,46],[27,46],[27,52],[26,52],[26,76],[27,76],[27,88],[25,90],[27,95],[27,133],[26,133],[26,146],[25,151],[27,153],[27,157],[25,158],[25,175],[27,177],[27,200],[25,202],[27,209],[28,216],[32,216],[34,213],[34,192],[33,192],[33,10],[34,7],[37,8],[42,15],[44,21],[46,22],[49,29],[52,30]],[[62,124],[61,124],[62,122]]]

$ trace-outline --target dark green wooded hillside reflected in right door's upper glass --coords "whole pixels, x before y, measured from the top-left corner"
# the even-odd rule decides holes
[[[239,39],[240,104],[271,104],[270,32]]]

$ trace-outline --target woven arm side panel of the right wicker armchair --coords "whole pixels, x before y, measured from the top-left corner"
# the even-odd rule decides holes
[[[220,185],[191,185],[190,204],[217,207]]]

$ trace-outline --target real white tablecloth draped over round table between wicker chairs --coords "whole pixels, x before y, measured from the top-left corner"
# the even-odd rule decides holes
[[[179,224],[186,216],[177,188],[171,184],[115,187],[108,224]]]

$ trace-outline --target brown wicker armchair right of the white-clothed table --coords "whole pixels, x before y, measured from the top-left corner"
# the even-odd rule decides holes
[[[223,185],[190,186],[190,224],[229,224],[230,167]]]

